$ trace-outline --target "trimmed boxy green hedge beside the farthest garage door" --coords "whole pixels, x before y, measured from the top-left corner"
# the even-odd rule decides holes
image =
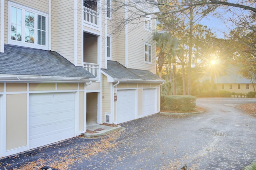
[[[182,96],[182,95],[171,95],[162,96],[163,103],[161,100],[161,108],[176,111],[191,111],[196,108],[196,97],[195,96]]]

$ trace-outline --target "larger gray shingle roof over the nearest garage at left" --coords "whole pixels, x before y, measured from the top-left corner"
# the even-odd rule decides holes
[[[57,52],[7,44],[4,53],[0,53],[0,74],[95,78]]]

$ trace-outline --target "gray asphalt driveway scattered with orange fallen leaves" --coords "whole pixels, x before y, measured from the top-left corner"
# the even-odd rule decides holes
[[[156,114],[120,124],[123,131],[73,138],[0,160],[0,169],[240,170],[256,159],[256,117],[250,98],[198,98],[198,115]]]

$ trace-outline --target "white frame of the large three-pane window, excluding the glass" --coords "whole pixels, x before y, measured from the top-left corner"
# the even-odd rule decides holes
[[[15,8],[19,8],[22,10],[22,41],[16,41],[16,40],[12,40],[11,39],[11,35],[12,35],[12,14],[11,14],[11,8],[15,7]],[[25,42],[25,11],[28,12],[32,12],[34,13],[34,43],[27,43]],[[37,44],[38,43],[38,15],[40,16],[44,16],[46,18],[46,42],[45,45],[40,45]],[[24,47],[31,47],[31,48],[36,48],[36,49],[44,49],[44,50],[49,50],[49,37],[48,37],[48,33],[49,33],[49,29],[48,29],[48,20],[49,20],[49,16],[48,14],[35,10],[33,8],[29,8],[27,6],[22,6],[20,4],[16,4],[14,2],[9,1],[8,2],[8,44],[12,44],[12,45],[18,45],[18,46],[24,46]]]

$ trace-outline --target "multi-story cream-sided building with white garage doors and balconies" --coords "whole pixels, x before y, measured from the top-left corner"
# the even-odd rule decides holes
[[[103,3],[0,0],[1,157],[160,110],[155,21],[117,37]]]

